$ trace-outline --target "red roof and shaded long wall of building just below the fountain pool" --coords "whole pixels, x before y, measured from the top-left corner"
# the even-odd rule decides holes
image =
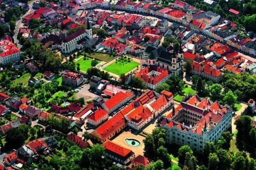
[[[121,160],[126,160],[131,155],[134,155],[134,152],[132,150],[129,150],[128,148],[122,147],[121,145],[115,144],[114,142],[111,142],[108,140],[104,144],[102,144],[103,147],[106,148],[106,152],[109,155],[113,155],[115,157],[120,158]]]

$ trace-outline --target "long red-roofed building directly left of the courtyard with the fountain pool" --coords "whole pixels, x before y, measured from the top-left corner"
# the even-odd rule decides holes
[[[114,137],[118,132],[122,131],[126,127],[126,120],[121,112],[108,119],[105,123],[101,124],[95,131],[91,133],[93,139],[98,142],[106,142],[107,140]]]

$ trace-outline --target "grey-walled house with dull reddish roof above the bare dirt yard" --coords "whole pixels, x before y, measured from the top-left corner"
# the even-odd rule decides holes
[[[83,75],[67,71],[62,75],[62,83],[75,87],[80,86],[83,83]]]

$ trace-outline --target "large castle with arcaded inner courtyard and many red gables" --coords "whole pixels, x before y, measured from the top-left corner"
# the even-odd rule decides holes
[[[216,142],[231,127],[232,112],[232,108],[218,102],[187,96],[160,126],[166,129],[169,144],[190,145],[193,150],[203,152],[207,142]]]

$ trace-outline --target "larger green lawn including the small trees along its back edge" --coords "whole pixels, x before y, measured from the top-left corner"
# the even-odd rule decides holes
[[[135,67],[139,67],[140,63],[134,62],[131,57],[121,56],[116,59],[115,62],[111,63],[103,70],[114,73],[115,75],[122,75],[128,73]]]

